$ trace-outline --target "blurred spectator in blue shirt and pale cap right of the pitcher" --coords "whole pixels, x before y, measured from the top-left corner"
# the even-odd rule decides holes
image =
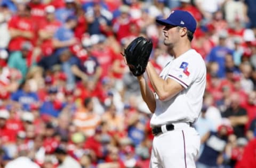
[[[233,54],[233,51],[226,46],[226,38],[228,37],[227,31],[223,30],[219,34],[219,44],[213,47],[206,56],[206,62],[217,62],[219,65],[219,69],[217,72],[217,76],[219,78],[225,77],[225,57],[227,54]]]

